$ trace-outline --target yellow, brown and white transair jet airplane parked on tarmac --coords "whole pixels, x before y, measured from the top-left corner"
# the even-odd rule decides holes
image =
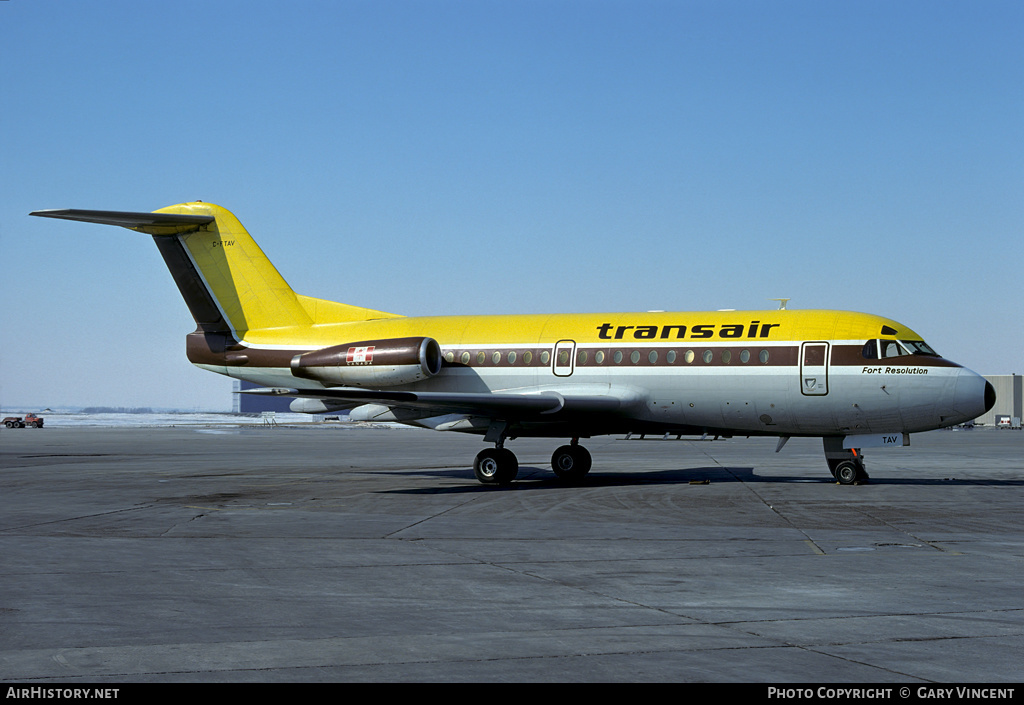
[[[867,481],[864,448],[969,421],[995,404],[983,377],[906,326],[842,310],[402,317],[295,293],[238,218],[201,201],[154,212],[41,210],[153,236],[196,320],[188,360],[294,398],[477,433],[484,485],[518,474],[507,441],[567,439],[554,473],[580,481],[602,434],[822,439],[839,484]]]

